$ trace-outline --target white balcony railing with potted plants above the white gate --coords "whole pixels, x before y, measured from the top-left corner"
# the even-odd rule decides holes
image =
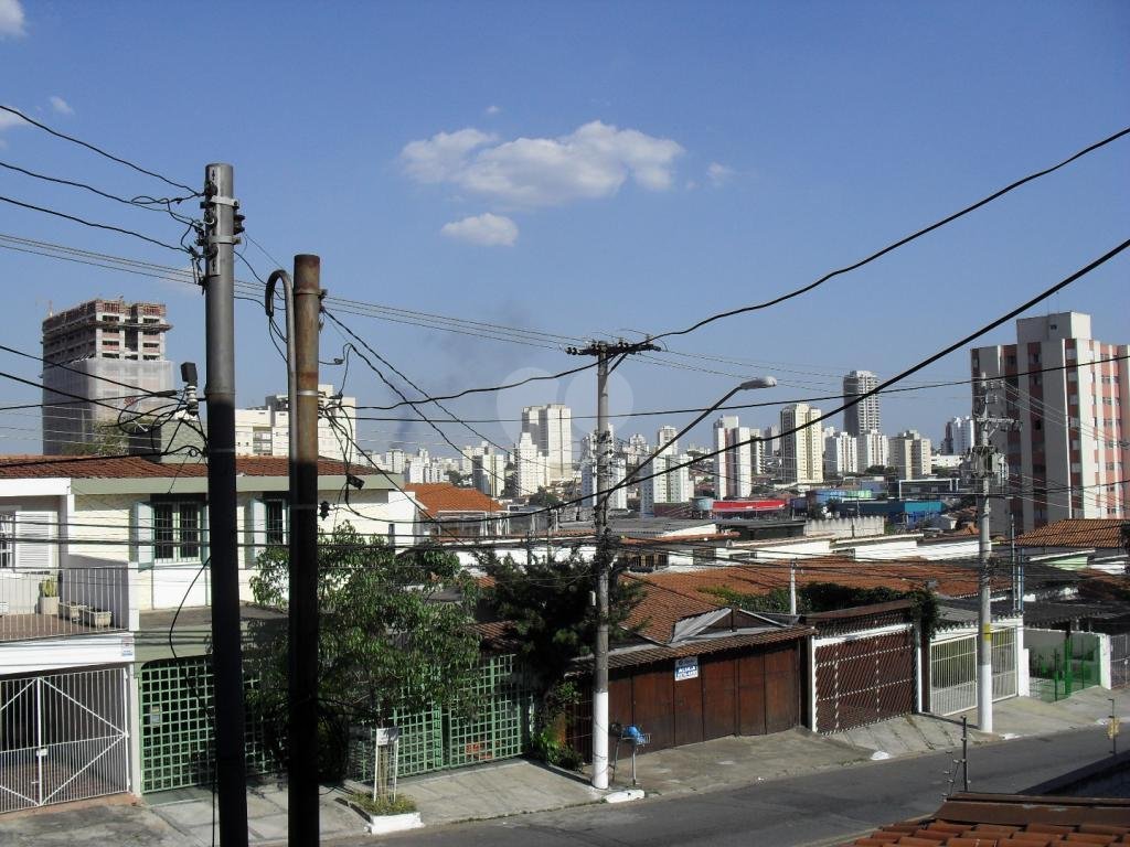
[[[129,628],[125,567],[0,569],[0,641]]]

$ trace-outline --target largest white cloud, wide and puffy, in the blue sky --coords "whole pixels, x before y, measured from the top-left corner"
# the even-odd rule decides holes
[[[520,207],[560,206],[616,194],[631,176],[650,191],[671,187],[676,141],[593,121],[559,138],[497,140],[475,129],[405,146],[410,176]]]

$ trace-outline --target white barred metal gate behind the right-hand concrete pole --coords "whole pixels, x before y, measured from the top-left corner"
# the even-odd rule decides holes
[[[1016,630],[992,634],[992,699],[1016,697]],[[976,636],[930,645],[930,711],[953,715],[977,705]]]

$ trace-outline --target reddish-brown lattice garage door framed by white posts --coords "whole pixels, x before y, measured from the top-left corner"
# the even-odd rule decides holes
[[[816,728],[841,732],[914,709],[914,634],[847,638],[816,648]]]

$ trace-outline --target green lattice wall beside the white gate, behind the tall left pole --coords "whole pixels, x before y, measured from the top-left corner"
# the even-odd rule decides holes
[[[249,691],[257,680],[244,681]],[[141,791],[208,785],[215,776],[211,662],[205,657],[148,662],[138,676],[141,705]],[[247,772],[276,769],[263,726],[249,715]]]

